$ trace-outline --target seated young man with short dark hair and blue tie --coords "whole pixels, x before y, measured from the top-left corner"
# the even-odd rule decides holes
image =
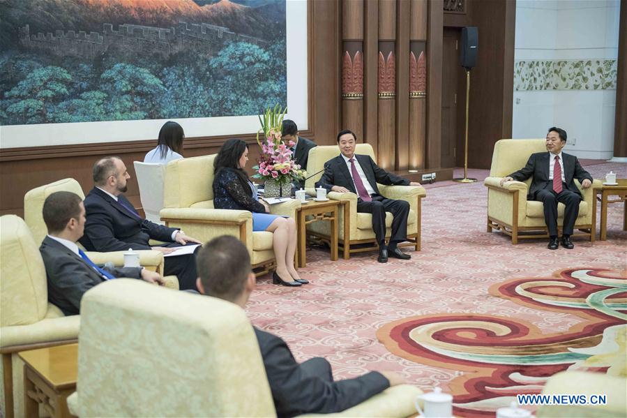
[[[46,268],[48,301],[66,315],[80,313],[83,294],[103,281],[117,278],[142,278],[163,284],[156,272],[142,267],[98,267],[76,245],[83,235],[85,207],[71,192],[56,192],[43,203],[43,221],[48,234],[39,251]]]

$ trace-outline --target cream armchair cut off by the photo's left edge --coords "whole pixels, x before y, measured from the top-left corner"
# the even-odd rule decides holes
[[[80,317],[48,303],[39,243],[15,215],[0,217],[0,352],[3,416],[24,416],[24,363],[17,352],[76,342]]]

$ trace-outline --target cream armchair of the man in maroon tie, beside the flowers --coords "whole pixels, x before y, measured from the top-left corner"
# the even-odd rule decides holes
[[[340,154],[337,146],[315,147],[309,151],[307,172],[316,173],[324,169],[324,163]],[[370,144],[357,144],[355,154],[365,154],[372,157],[375,162],[375,151]],[[322,177],[322,172],[305,181],[305,188],[309,193],[315,194],[316,182]],[[423,187],[418,186],[384,186],[377,184],[379,191],[390,199],[406,200],[409,202],[409,216],[407,218],[407,239],[411,242],[400,246],[413,246],[416,251],[421,248],[421,199],[427,195]],[[342,202],[340,209],[340,222],[338,241],[344,258],[349,258],[350,253],[372,251],[379,248],[372,230],[372,215],[357,213],[357,195],[355,193],[330,192],[328,197]],[[393,216],[386,216],[386,237],[390,237]],[[313,222],[307,225],[308,233],[328,240],[331,235],[328,222]],[[371,246],[352,247],[354,244],[372,244]]]

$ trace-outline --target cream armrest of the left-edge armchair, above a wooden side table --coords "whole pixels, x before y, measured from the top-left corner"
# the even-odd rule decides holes
[[[28,325],[0,328],[0,348],[10,352],[11,346],[51,343],[78,338],[80,315],[44,318]]]

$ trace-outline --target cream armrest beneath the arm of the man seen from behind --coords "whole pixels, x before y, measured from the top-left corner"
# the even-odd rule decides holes
[[[307,414],[305,417],[409,417],[416,415],[416,397],[423,391],[412,385],[388,387],[367,401],[335,414]]]

